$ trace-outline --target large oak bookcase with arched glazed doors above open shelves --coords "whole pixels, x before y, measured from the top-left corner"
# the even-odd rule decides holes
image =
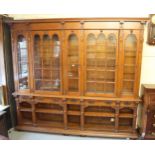
[[[147,18],[12,21],[18,130],[137,138]]]

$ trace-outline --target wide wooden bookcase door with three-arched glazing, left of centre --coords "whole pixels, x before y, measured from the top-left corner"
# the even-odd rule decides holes
[[[62,50],[60,31],[32,32],[33,87],[37,93],[62,92]]]

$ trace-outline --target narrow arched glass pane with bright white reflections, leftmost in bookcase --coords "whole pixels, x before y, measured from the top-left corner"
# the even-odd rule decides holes
[[[18,77],[19,89],[28,89],[28,51],[27,41],[23,35],[19,35],[18,39]]]

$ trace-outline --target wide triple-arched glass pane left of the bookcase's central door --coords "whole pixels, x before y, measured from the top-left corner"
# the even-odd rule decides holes
[[[41,39],[42,38],[42,39]],[[36,90],[60,91],[60,41],[55,34],[34,36]]]

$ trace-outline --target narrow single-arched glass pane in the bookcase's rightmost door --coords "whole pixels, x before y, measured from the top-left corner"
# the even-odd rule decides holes
[[[137,39],[134,34],[127,36],[124,45],[123,92],[133,93],[135,80]]]

